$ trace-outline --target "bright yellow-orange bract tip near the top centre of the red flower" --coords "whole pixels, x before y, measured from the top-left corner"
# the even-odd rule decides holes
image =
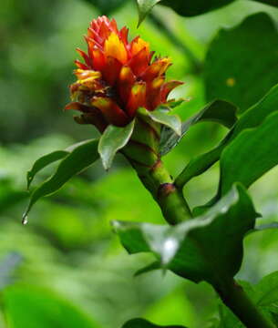
[[[128,60],[126,47],[115,32],[111,32],[105,41],[104,54],[107,57],[112,56],[118,59],[122,64],[125,64]]]

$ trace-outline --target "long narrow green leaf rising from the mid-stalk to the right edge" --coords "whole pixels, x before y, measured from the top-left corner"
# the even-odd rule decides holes
[[[215,149],[201,154],[182,170],[176,179],[176,184],[182,188],[190,179],[196,177],[211,168],[221,157],[221,152],[225,147],[236,138],[245,128],[255,128],[271,113],[278,110],[278,85],[273,87],[257,104],[249,108],[241,118],[238,119],[234,128],[228,133],[226,138]]]

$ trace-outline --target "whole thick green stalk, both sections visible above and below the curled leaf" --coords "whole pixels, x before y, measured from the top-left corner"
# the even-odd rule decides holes
[[[123,155],[136,170],[139,179],[160,206],[163,217],[170,225],[192,219],[190,208],[183,197],[182,188],[176,187],[169,171],[160,159],[160,124],[147,116],[136,118],[135,129]],[[222,277],[213,286],[222,302],[228,306],[247,328],[275,328],[275,325],[252,303],[232,278]]]

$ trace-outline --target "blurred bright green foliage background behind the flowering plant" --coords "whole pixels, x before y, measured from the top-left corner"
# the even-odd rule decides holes
[[[0,327],[120,328],[142,316],[161,325],[208,328],[218,316],[217,298],[206,283],[184,282],[170,272],[133,276],[151,258],[129,256],[109,221],[163,220],[120,156],[108,173],[97,163],[56,196],[39,201],[29,224],[20,223],[28,196],[26,171],[34,160],[98,135],[62,109],[74,81],[75,48],[86,48],[82,36],[89,21],[108,11],[118,26],[129,26],[130,36],[139,34],[157,54],[172,58],[169,78],[185,82],[172,96],[190,99],[178,109],[182,118],[206,103],[202,63],[218,31],[257,12],[267,12],[276,22],[278,17],[277,9],[245,0],[190,18],[158,5],[137,29],[137,8],[131,0],[1,1]],[[211,149],[225,132],[215,123],[191,128],[165,158],[172,174],[192,156]],[[42,171],[36,183],[51,169]],[[191,206],[211,199],[218,175],[215,165],[190,182],[185,194]],[[262,223],[278,220],[277,179],[276,168],[252,186]],[[277,249],[278,231],[250,235],[238,278],[257,282],[278,270]]]

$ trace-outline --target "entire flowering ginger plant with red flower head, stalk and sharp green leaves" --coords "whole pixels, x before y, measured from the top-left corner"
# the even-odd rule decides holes
[[[23,222],[26,223],[28,212],[41,197],[57,191],[98,158],[104,169],[109,169],[119,152],[158,203],[166,221],[165,225],[112,222],[129,253],[154,254],[155,261],[143,271],[170,270],[193,282],[209,282],[246,327],[273,328],[276,316],[259,308],[234,276],[242,264],[243,238],[254,230],[258,217],[246,189],[277,164],[273,149],[277,146],[278,114],[271,104],[278,95],[278,87],[273,87],[240,118],[231,103],[215,100],[181,122],[172,109],[183,100],[169,98],[170,91],[181,84],[166,80],[170,58],[154,56],[146,41],[139,36],[129,41],[128,33],[126,26],[118,29],[116,21],[106,16],[90,23],[86,36],[88,52],[77,49],[84,61],[76,61],[77,81],[70,86],[71,102],[66,109],[79,111],[76,122],[95,126],[100,138],[85,140],[36,160],[27,174],[28,187],[40,169],[54,161],[61,162],[57,171],[32,191]],[[174,179],[162,157],[191,126],[204,119],[219,121],[230,131],[218,147],[192,159]],[[242,169],[241,162],[234,163],[236,156],[242,160],[249,157],[264,138],[268,143],[257,148],[252,159],[258,163],[258,157],[264,156],[261,164],[250,171]],[[184,185],[219,159],[221,179],[217,194],[205,206],[190,210],[183,195]],[[136,319],[124,327],[154,325]]]

